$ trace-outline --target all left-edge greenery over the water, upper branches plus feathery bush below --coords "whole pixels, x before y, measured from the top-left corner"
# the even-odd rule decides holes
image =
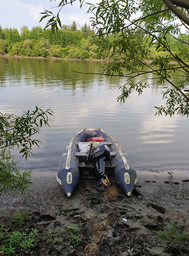
[[[24,112],[22,116],[0,113],[0,194],[6,191],[24,192],[28,187],[31,171],[18,171],[11,149],[20,148],[19,153],[25,159],[33,154],[32,147],[39,147],[42,143],[33,135],[40,133],[43,124],[49,126],[49,116],[52,116],[50,109],[44,111],[37,106],[34,111]]]

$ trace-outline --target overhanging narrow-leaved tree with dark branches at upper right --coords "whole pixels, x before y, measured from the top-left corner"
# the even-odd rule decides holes
[[[68,0],[63,0],[59,7],[63,8],[67,3]],[[121,95],[118,100],[124,102],[133,90],[141,94],[150,84],[149,78],[139,79],[140,75],[152,73],[158,84],[163,87],[165,82],[170,84],[163,93],[166,103],[156,107],[156,114],[189,116],[189,92],[186,91],[189,84],[189,65],[185,62],[186,57],[183,57],[181,48],[174,52],[169,40],[171,36],[182,46],[189,45],[185,39],[177,38],[182,26],[189,30],[188,1],[100,0],[97,4],[89,4],[88,13],[93,15],[92,28],[97,31],[94,40],[98,56],[103,58],[110,51],[113,56],[112,61],[103,66],[102,75],[126,79],[126,83],[120,88]],[[53,14],[46,11],[45,15],[44,18],[47,18]],[[57,22],[54,15],[47,22],[47,26],[55,29]],[[149,65],[145,59],[152,46],[164,54],[152,56],[152,63]],[[188,52],[186,55],[188,56]],[[178,66],[171,61],[176,61]],[[144,70],[146,67],[149,68],[148,71]],[[177,70],[182,72],[181,76],[176,74]],[[171,75],[177,76],[176,83],[171,81]]]

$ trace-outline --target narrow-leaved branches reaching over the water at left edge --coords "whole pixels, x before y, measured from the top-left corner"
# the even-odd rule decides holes
[[[32,154],[32,146],[39,147],[41,143],[40,140],[33,139],[32,135],[39,134],[43,124],[49,126],[48,116],[52,116],[50,109],[44,111],[37,106],[34,111],[24,112],[22,116],[0,113],[0,149],[21,147],[19,153],[27,159]],[[6,157],[8,155],[4,158]]]

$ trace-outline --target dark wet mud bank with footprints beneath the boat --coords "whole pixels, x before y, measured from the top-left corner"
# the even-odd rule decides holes
[[[13,211],[24,208],[36,217],[27,226],[42,227],[32,253],[36,256],[188,255],[188,241],[162,241],[157,232],[177,223],[180,234],[189,234],[189,170],[143,168],[137,169],[137,175],[131,197],[115,181],[108,188],[96,181],[80,180],[68,198],[56,181],[55,171],[34,171],[27,194],[1,197],[0,220],[3,223]],[[79,221],[82,229],[77,246],[72,246],[66,235],[61,245],[43,239],[49,230],[64,232],[68,223]]]

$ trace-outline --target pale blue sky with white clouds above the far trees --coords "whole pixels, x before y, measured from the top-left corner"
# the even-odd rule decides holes
[[[32,26],[44,28],[47,19],[39,23],[43,16],[40,12],[43,12],[44,8],[50,10],[51,7],[57,6],[59,2],[59,0],[56,2],[54,0],[52,2],[50,0],[0,0],[0,25],[2,28],[17,28],[19,32],[23,25],[28,26],[29,30]],[[57,8],[51,9],[54,13],[56,13],[56,10]],[[73,21],[76,21],[80,26],[84,25],[85,22],[89,24],[91,14],[86,14],[86,12],[86,4],[80,8],[79,1],[74,2],[73,6],[66,5],[59,15],[61,23],[70,25]]]

